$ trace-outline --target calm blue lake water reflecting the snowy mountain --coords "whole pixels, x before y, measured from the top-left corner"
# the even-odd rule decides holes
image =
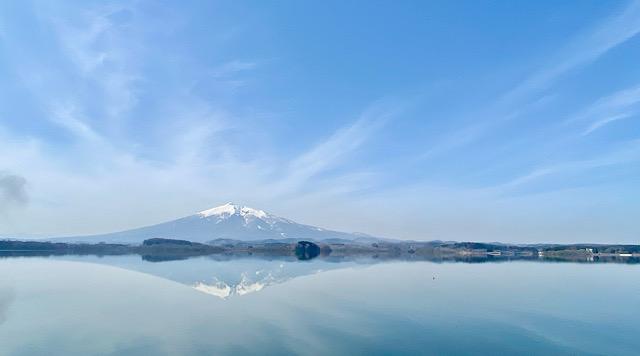
[[[0,259],[2,355],[640,353],[640,265]]]

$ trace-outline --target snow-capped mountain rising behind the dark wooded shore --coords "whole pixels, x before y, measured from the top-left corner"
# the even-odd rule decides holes
[[[103,235],[76,236],[61,240],[90,243],[141,243],[154,237],[194,242],[208,242],[217,239],[241,241],[268,239],[305,239],[312,241],[344,239],[363,241],[375,239],[360,233],[344,233],[302,225],[271,215],[263,210],[228,203],[158,225]]]

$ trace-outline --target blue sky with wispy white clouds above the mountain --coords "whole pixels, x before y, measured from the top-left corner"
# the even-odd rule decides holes
[[[640,242],[638,1],[8,1],[0,235],[229,201],[418,240]]]

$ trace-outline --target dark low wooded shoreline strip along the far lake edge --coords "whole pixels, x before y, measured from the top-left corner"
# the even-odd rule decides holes
[[[491,262],[512,260],[640,263],[640,245],[537,245],[519,246],[478,242],[378,242],[371,244],[315,243],[310,241],[246,242],[224,245],[202,244],[186,240],[148,239],[141,245],[83,244],[0,240],[0,257],[60,255],[140,255],[150,262],[186,259],[197,256],[296,257],[299,260],[372,258],[380,260],[426,260]]]

